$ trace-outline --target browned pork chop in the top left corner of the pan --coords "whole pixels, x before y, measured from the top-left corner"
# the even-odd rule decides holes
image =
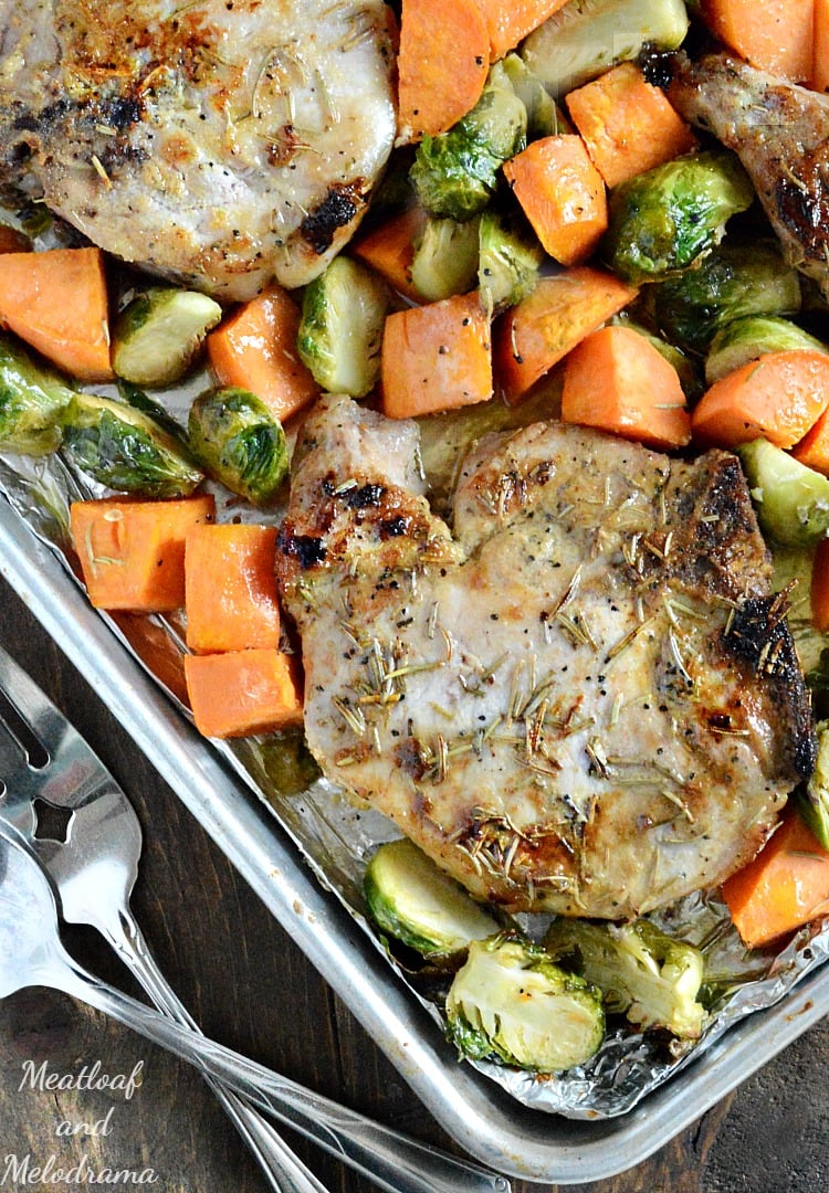
[[[355,230],[395,116],[382,0],[0,0],[0,185],[221,298]]]

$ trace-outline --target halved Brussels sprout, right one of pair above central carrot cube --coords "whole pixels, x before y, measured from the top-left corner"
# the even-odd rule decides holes
[[[544,249],[529,227],[495,211],[480,217],[478,289],[489,310],[512,307],[535,289]]]

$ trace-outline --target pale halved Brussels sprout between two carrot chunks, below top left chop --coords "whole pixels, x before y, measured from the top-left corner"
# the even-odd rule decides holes
[[[115,321],[112,367],[135,385],[172,385],[221,317],[219,303],[197,290],[151,286]]]

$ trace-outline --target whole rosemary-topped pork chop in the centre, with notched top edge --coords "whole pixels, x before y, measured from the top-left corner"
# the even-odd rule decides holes
[[[718,884],[813,765],[737,459],[489,435],[454,534],[413,424],[311,414],[277,571],[325,773],[474,895],[622,919]]]

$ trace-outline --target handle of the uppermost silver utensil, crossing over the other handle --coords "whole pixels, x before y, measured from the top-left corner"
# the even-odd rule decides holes
[[[207,1036],[130,999],[84,970],[68,956],[42,975],[118,1022],[168,1049],[203,1073],[233,1086],[281,1121],[295,1127],[386,1193],[509,1193],[509,1181],[455,1158],[392,1127],[282,1077]]]

